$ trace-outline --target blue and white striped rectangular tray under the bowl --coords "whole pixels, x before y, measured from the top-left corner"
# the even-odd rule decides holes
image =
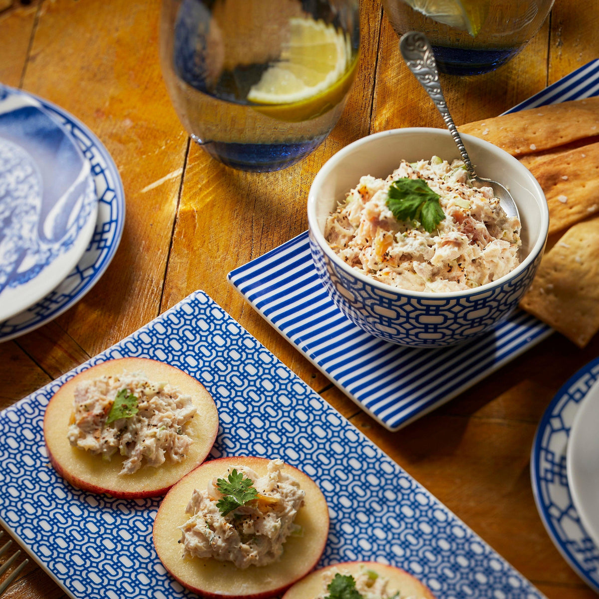
[[[599,60],[508,112],[595,95]],[[341,314],[326,294],[312,264],[307,232],[235,269],[229,282],[341,391],[391,431],[456,397],[553,332],[517,311],[490,334],[456,347],[413,349],[373,337]]]

